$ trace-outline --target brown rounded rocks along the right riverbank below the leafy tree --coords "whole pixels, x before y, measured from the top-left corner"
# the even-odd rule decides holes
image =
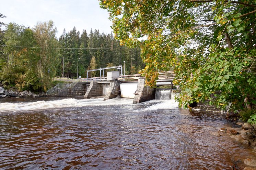
[[[241,126],[240,128],[221,128],[221,133],[227,133],[231,138],[241,141],[242,143],[249,145],[256,151],[256,125],[249,123],[237,122],[236,125]],[[213,135],[221,136],[219,132],[213,133]],[[247,158],[244,160],[246,167],[244,170],[256,170],[256,158]]]

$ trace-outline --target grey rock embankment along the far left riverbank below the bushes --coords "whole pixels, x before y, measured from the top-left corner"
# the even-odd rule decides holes
[[[35,94],[32,93],[31,91],[13,91],[13,90],[5,90],[3,87],[0,87],[0,99],[5,98],[5,97],[15,97],[15,98],[20,98],[20,97],[42,97],[45,96],[45,93],[39,93]]]

